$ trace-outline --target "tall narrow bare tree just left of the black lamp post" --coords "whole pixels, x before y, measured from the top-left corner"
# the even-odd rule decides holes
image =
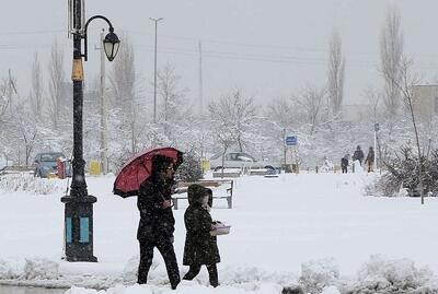
[[[59,128],[59,118],[61,116],[61,109],[65,105],[64,102],[64,86],[66,81],[66,74],[64,71],[64,52],[57,40],[51,45],[50,61],[48,66],[49,71],[49,104],[48,113],[51,119],[54,129]]]

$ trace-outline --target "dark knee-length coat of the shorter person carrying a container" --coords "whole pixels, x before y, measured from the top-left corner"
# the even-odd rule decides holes
[[[184,213],[186,228],[184,245],[184,266],[215,264],[220,262],[216,236],[210,235],[210,213],[196,202],[189,204]]]

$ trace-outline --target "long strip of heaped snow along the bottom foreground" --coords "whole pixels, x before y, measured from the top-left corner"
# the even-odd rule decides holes
[[[283,293],[311,294],[438,293],[438,280],[427,268],[417,268],[408,259],[389,259],[380,255],[371,256],[356,278],[341,278],[333,259],[320,259],[302,263],[298,280],[290,272],[267,272],[255,267],[227,267],[219,269],[219,287],[208,286],[208,274],[204,270],[194,281],[182,281],[176,292],[170,289],[162,261],[152,263],[148,285],[136,284],[138,258],[139,256],[130,258],[124,271],[114,275],[91,272],[67,274],[60,270],[57,261],[48,259],[0,259],[0,280],[34,286],[82,286],[71,287],[69,294],[270,294],[281,293],[281,290]]]

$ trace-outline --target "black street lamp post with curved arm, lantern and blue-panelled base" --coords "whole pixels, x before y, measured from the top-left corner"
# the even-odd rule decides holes
[[[119,39],[114,34],[111,22],[102,15],[92,16],[81,27],[82,2],[73,0],[73,64],[71,80],[73,82],[73,161],[70,195],[61,198],[65,208],[65,244],[67,261],[91,261],[96,262],[93,255],[93,203],[97,201],[94,196],[87,191],[82,143],[82,105],[83,105],[83,67],[82,57],[88,60],[87,28],[92,20],[104,20],[110,26],[103,46],[110,61],[117,55]],[[84,39],[84,54],[81,45]]]

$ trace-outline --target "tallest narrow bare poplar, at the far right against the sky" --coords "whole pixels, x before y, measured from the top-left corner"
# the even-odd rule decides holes
[[[401,16],[396,7],[388,9],[385,24],[380,36],[380,71],[384,78],[384,106],[390,118],[400,108],[401,61],[403,56],[403,33]]]

